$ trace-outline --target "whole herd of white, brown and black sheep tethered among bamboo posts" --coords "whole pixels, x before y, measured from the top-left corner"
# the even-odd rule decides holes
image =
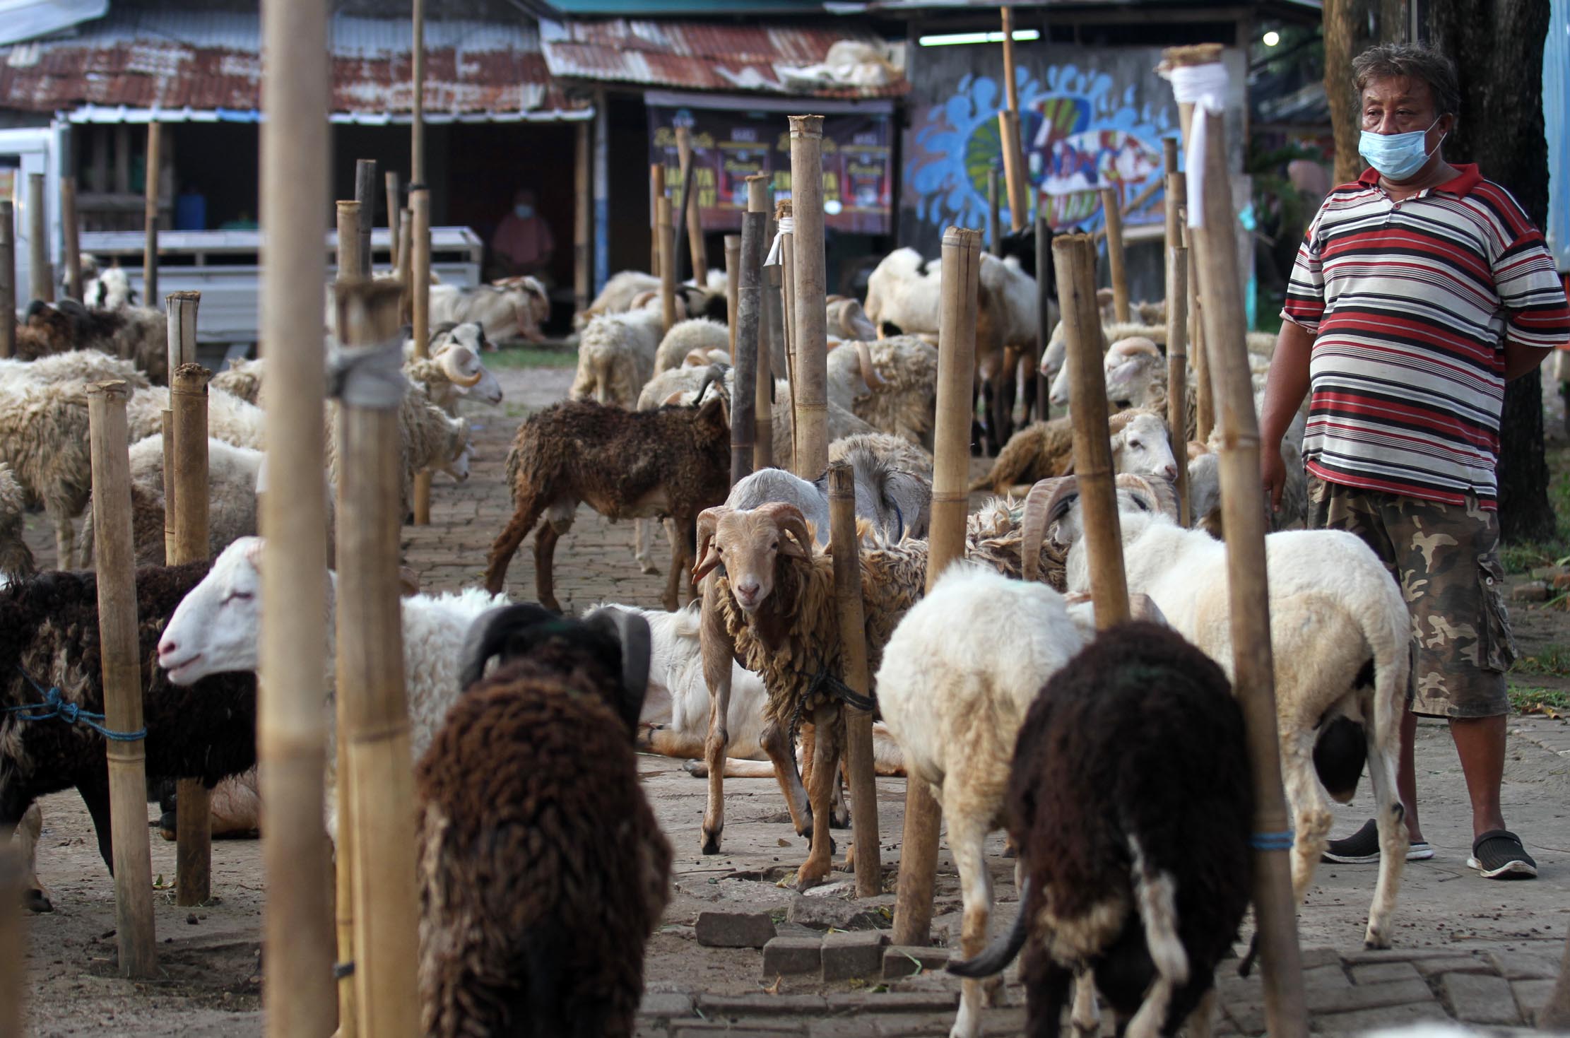
[[[132,388],[149,788],[198,777],[254,790],[265,363],[237,363],[212,380],[212,562],[168,567],[163,316],[137,308],[105,273],[89,298],[113,305],[35,303],[19,323],[19,360],[0,361],[0,835],[16,829],[28,861],[39,834],[35,801],[72,787],[111,861],[105,733],[60,722],[104,711],[94,578],[69,568],[93,559],[91,524],[78,537],[74,520],[91,495],[94,382]],[[1099,994],[1132,1038],[1170,1035],[1190,1019],[1204,1033],[1215,964],[1248,901],[1253,824],[1229,686],[1226,546],[1214,535],[1215,455],[1192,443],[1192,430],[1168,435],[1160,305],[1141,306],[1149,323],[1108,320],[1118,515],[1141,619],[1097,634],[1068,421],[1014,429],[1016,405],[1024,397],[1028,408],[1036,382],[1031,371],[1019,378],[1020,363],[1044,331],[1033,275],[1016,258],[981,264],[977,440],[994,459],[972,490],[997,496],[967,517],[964,557],[931,589],[937,267],[900,250],[871,275],[865,303],[826,303],[829,452],[854,473],[862,634],[881,715],[876,769],[926,782],[942,806],[964,901],[953,1035],[980,1033],[986,989],[997,983],[988,978],[1020,950],[1031,1033],[1053,1032],[1069,981],[1077,1027],[1096,1019]],[[455,404],[501,400],[484,366],[487,322],[537,334],[535,287],[488,287],[488,309],[440,327],[429,360],[407,352],[397,446],[405,512],[416,473],[466,476],[468,424],[452,416]],[[432,1035],[565,1033],[564,1021],[584,1019],[595,1021],[593,1033],[631,1033],[644,944],[664,909],[672,861],[637,785],[634,751],[691,758],[689,771],[706,777],[708,854],[724,839],[724,779],[776,776],[810,840],[796,886],[831,872],[823,821],[846,815],[843,705],[856,694],[843,685],[827,482],[787,471],[790,358],[779,355],[768,360],[771,446],[782,468],[730,484],[724,278],[681,286],[680,322],[664,333],[656,289],[648,275],[620,273],[578,316],[568,399],[524,419],[509,449],[515,510],[490,550],[484,587],[402,600],[419,985]],[[1057,400],[1061,339],[1044,338],[1041,374]],[[1269,344],[1251,338],[1248,347],[1262,374]],[[334,421],[328,404],[328,430]],[[1178,517],[1179,463],[1192,479],[1193,528]],[[331,488],[331,446],[323,470]],[[1300,498],[1300,485],[1289,488],[1278,526],[1302,523]],[[667,523],[664,609],[603,603],[581,620],[559,616],[553,551],[579,504],[641,520],[634,557],[645,570],[655,568],[650,532]],[[53,523],[60,570],[36,572],[22,542],[30,506]],[[506,578],[531,532],[537,605],[521,605],[507,597]],[[1366,763],[1385,853],[1364,939],[1385,947],[1405,861],[1394,791],[1405,606],[1350,534],[1276,532],[1267,557],[1294,892],[1302,900],[1324,850],[1327,799],[1347,799]],[[333,589],[330,579],[330,598]],[[39,702],[44,689],[55,699]],[[331,708],[325,718],[331,740]],[[336,837],[331,749],[327,762],[325,821]],[[240,823],[250,826],[254,817]],[[983,842],[999,828],[1017,850],[1022,908],[1014,930],[988,948]],[[36,878],[30,897],[49,908]]]

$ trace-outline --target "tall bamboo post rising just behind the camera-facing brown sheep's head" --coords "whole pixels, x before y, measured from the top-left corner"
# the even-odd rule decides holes
[[[824,312],[823,116],[790,116],[794,220],[796,474],[816,479],[829,466],[829,328]]]

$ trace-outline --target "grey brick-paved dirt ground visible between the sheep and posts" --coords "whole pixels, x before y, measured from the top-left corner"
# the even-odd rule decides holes
[[[425,589],[452,589],[471,584],[484,565],[485,550],[501,528],[510,503],[502,485],[507,443],[523,415],[560,399],[570,369],[499,371],[507,402],[502,408],[474,411],[474,474],[454,485],[438,477],[433,493],[433,520],[429,528],[407,528],[408,564]],[[30,542],[47,567],[52,539],[42,517],[35,517]],[[661,562],[661,568],[669,565]],[[570,611],[595,601],[625,601],[656,606],[663,576],[637,572],[631,559],[631,524],[609,524],[587,509],[579,509],[571,532],[557,550],[557,594]],[[509,589],[515,597],[532,597],[532,556],[520,553],[510,570]],[[1570,642],[1567,614],[1528,609],[1512,603],[1517,634],[1526,652],[1556,642]],[[732,779],[727,782],[727,828],[724,853],[705,857],[697,853],[703,784],[686,776],[680,762],[642,757],[641,774],[659,821],[677,851],[675,890],[659,931],[648,947],[647,981],[650,992],[758,996],[831,996],[826,1005],[876,1003],[898,992],[958,991],[947,975],[926,972],[901,981],[868,986],[865,981],[826,985],[818,980],[774,978],[761,974],[755,950],[706,948],[697,944],[694,922],[705,909],[772,911],[777,919],[802,911],[802,898],[776,886],[787,868],[805,854],[783,813],[783,801],[772,780]],[[1430,862],[1408,865],[1394,925],[1399,948],[1526,955],[1539,963],[1557,961],[1570,925],[1570,724],[1542,716],[1512,718],[1509,763],[1504,782],[1504,810],[1540,865],[1535,883],[1501,884],[1479,879],[1466,865],[1470,851],[1470,812],[1454,746],[1443,724],[1424,722],[1418,736],[1418,776],[1424,829],[1437,850]],[[1349,807],[1338,810],[1336,832],[1347,832],[1369,817],[1367,790]],[[898,839],[903,820],[904,782],[878,784],[882,862],[885,889],[893,889]],[[39,843],[38,872],[55,911],[33,916],[28,950],[30,1033],[53,1035],[223,1035],[248,1038],[262,1033],[261,1018],[261,912],[265,879],[257,840],[214,843],[214,900],[201,908],[177,908],[173,892],[155,895],[159,977],[127,981],[116,974],[113,886],[93,837],[86,810],[75,793],[42,801],[44,835]],[[149,820],[157,818],[149,807]],[[840,839],[843,861],[848,834]],[[999,917],[1014,912],[1011,862],[1002,856],[1002,835],[989,842]],[[1300,941],[1305,948],[1333,948],[1353,955],[1361,948],[1374,884],[1372,865],[1320,865],[1316,886],[1300,912]],[[160,884],[173,881],[174,845],[152,832],[152,872]],[[944,851],[939,865],[936,922],[933,936],[947,944],[958,927],[958,887],[953,864]],[[837,879],[840,876],[835,876]],[[290,876],[290,883],[317,883],[316,876]],[[835,887],[816,894],[820,905],[848,911]],[[892,894],[867,909],[871,920],[887,927]],[[835,905],[838,903],[838,905]],[[810,908],[810,906],[809,906]],[[997,920],[995,920],[997,922]],[[790,923],[782,923],[788,928]],[[1245,928],[1247,933],[1247,928]],[[1331,961],[1334,961],[1331,955]],[[1490,959],[1495,961],[1495,959]],[[1353,967],[1347,967],[1353,969]],[[1501,975],[1504,975],[1501,969]],[[1526,1011],[1529,999],[1546,991],[1540,980],[1521,981],[1515,997]],[[885,989],[887,988],[887,989]],[[846,1002],[848,999],[848,1002]],[[940,999],[939,999],[940,1000]],[[1006,1003],[1022,1000],[1017,986],[1005,989]],[[1231,980],[1223,985],[1223,1002],[1258,1003],[1258,977],[1250,985]],[[813,1003],[816,1005],[816,1003]],[[914,1003],[912,1003],[914,1005]],[[1258,1033],[1243,1011],[1221,1021],[1221,1033]],[[874,1005],[876,1008],[876,1005]],[[1454,1013],[1451,1003],[1446,1011]],[[1513,1011],[1513,1010],[1512,1010]],[[991,1013],[1005,1013],[992,1010]],[[1258,1018],[1258,1010],[1253,1010]],[[874,1029],[871,1018],[849,1018],[840,1030],[809,1029],[802,1019],[779,1018],[779,1033],[947,1033],[951,1008],[925,1014],[884,1018]],[[854,1021],[865,1019],[865,1030]],[[999,1016],[1000,1027],[1016,1021]],[[790,1021],[790,1022],[787,1022]],[[906,1021],[896,1024],[895,1021]],[[664,1035],[664,1021],[647,1021],[641,1033]],[[697,1021],[694,1019],[694,1027]],[[670,1033],[697,1033],[677,1030]],[[713,1027],[713,1024],[710,1024]],[[989,1024],[989,1033],[991,1033]],[[771,1030],[769,1033],[776,1033]],[[754,1032],[747,1032],[754,1033]]]

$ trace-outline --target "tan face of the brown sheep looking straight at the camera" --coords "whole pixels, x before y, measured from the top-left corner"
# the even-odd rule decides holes
[[[697,517],[699,564],[694,579],[724,567],[743,612],[757,612],[774,590],[774,564],[783,556],[812,559],[812,532],[794,504],[757,509],[705,509]]]

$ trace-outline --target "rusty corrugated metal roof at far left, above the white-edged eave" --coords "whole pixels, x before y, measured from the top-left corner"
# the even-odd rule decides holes
[[[413,108],[408,20],[333,17],[333,111],[386,119]],[[132,11],[78,36],[0,49],[0,107],[261,108],[261,22],[243,11]],[[587,108],[551,79],[526,20],[430,22],[425,113],[433,119]]]

